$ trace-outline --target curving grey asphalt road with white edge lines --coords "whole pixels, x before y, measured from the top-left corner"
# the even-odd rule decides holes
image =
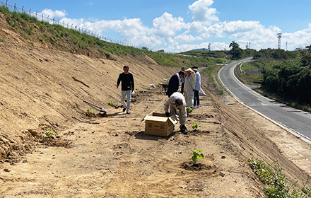
[[[234,75],[234,68],[241,62],[247,62],[252,58],[242,59],[227,64],[218,73],[218,78],[240,103],[247,105],[252,110],[259,112],[269,120],[280,125],[289,132],[300,136],[305,141],[311,141],[311,115],[308,112],[296,110],[292,107],[277,103],[252,91],[241,83]]]

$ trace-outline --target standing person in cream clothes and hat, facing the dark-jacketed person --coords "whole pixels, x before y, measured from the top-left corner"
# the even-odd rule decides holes
[[[193,107],[194,103],[194,85],[196,82],[196,74],[191,68],[184,71],[187,77],[184,79],[184,99],[186,100],[187,107]],[[189,115],[187,109],[187,115]]]

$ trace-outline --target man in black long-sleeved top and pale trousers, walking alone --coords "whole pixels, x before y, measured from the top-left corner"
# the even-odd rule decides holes
[[[119,74],[119,78],[117,80],[117,88],[119,88],[119,84],[121,83],[121,103],[124,108],[123,111],[127,110],[127,114],[129,112],[129,106],[131,105],[131,93],[134,91],[134,78],[131,73],[129,73],[129,66],[123,66],[123,71]],[[127,103],[125,103],[125,96],[127,95]]]

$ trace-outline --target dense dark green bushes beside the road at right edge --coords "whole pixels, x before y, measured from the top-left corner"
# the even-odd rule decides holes
[[[311,52],[298,50],[293,59],[266,65],[262,89],[304,105],[311,105]]]

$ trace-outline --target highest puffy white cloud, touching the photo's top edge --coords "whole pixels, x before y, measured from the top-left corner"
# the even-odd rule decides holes
[[[213,4],[213,0],[199,0],[189,5],[189,14],[194,21],[199,21],[205,25],[211,25],[219,21],[216,16],[216,8],[209,8]]]

